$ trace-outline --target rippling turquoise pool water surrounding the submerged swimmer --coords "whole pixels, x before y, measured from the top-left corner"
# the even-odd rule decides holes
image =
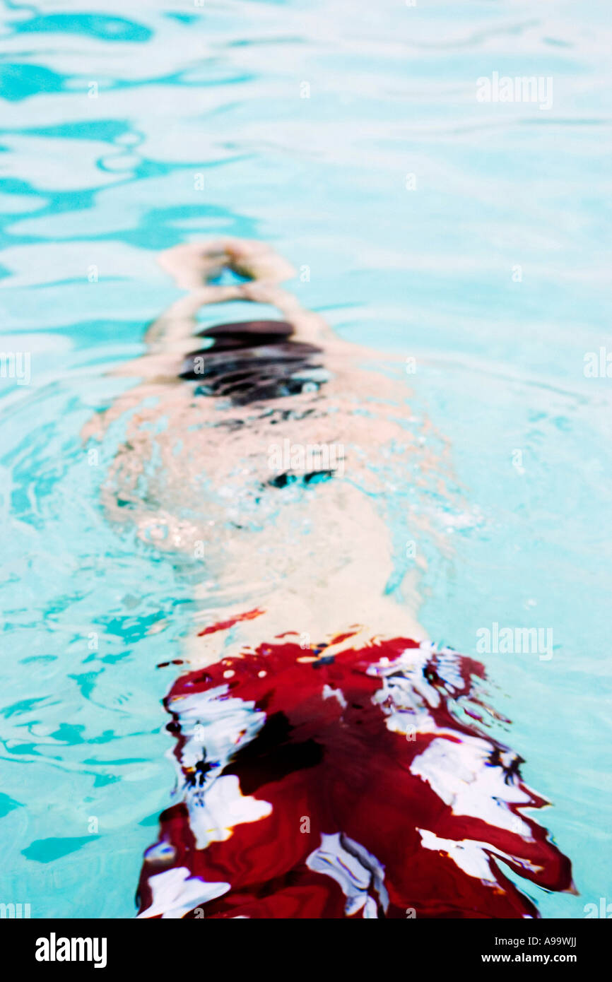
[[[174,783],[155,666],[197,608],[104,521],[112,448],[91,465],[79,433],[178,296],[156,252],[219,234],[417,359],[458,489],[420,496],[448,547],[417,543],[419,619],[473,656],[480,627],[553,629],[550,660],[477,657],[580,891],[530,896],[612,900],[612,380],[584,375],[612,349],[607,5],[75,0],[5,4],[2,30],[2,350],[30,377],[0,378],[0,900],[135,911]],[[493,72],[551,77],[553,106],[479,103]]]

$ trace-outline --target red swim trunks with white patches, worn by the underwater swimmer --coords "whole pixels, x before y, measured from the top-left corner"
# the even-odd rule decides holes
[[[570,861],[478,724],[482,676],[429,643],[325,658],[283,639],[179,679],[177,800],[139,916],[538,916],[504,870],[563,891]]]

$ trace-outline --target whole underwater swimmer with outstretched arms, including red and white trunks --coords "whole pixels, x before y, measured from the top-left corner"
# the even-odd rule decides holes
[[[487,733],[482,666],[427,640],[417,574],[394,560],[398,489],[449,494],[401,365],[335,337],[268,246],[178,246],[160,264],[187,294],[121,369],[135,387],[83,430],[119,440],[107,517],[201,567],[165,700],[177,787],[139,916],[537,916],[503,869],[573,889],[525,813],[546,802]],[[228,270],[238,282],[215,282]],[[199,329],[232,300],[281,317]]]

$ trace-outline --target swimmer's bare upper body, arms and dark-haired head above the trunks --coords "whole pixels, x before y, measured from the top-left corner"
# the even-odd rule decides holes
[[[423,442],[433,427],[417,433],[411,421],[403,363],[389,374],[388,355],[335,337],[280,287],[293,270],[260,243],[177,246],[160,264],[189,293],[149,326],[146,354],[117,370],[139,384],[83,429],[101,439],[125,426],[102,493],[108,518],[169,553],[203,553],[195,596],[211,623],[245,602],[265,608],[245,641],[262,627],[337,634],[365,612],[370,625],[425,637],[415,573],[404,573],[401,605],[386,594],[395,570],[383,475],[395,467],[407,480],[418,461],[417,481],[443,483]],[[224,269],[250,279],[211,284]],[[230,300],[271,304],[283,320],[195,337],[199,309]],[[292,448],[298,465],[279,468]]]

